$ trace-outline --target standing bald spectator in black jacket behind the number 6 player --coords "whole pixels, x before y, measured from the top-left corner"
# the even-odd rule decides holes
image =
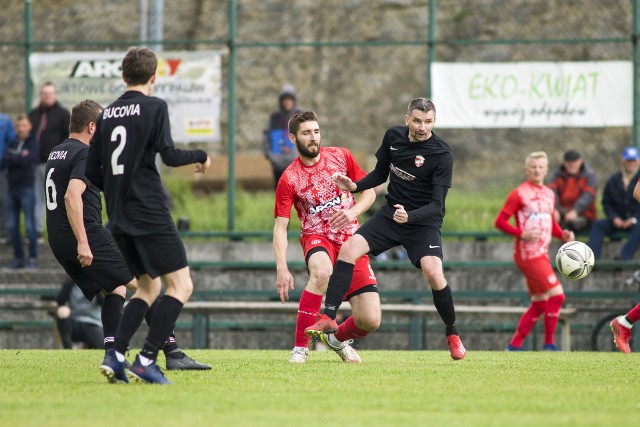
[[[40,144],[34,189],[36,195],[36,232],[44,229],[44,172],[51,149],[69,137],[69,111],[57,100],[56,87],[47,82],[40,88],[40,104],[29,112],[36,140]]]

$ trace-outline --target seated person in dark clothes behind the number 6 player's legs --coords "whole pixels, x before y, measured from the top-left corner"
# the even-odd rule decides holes
[[[70,278],[64,281],[56,296],[56,325],[63,348],[73,348],[74,342],[83,343],[85,348],[104,348],[103,301],[102,294],[88,301]]]

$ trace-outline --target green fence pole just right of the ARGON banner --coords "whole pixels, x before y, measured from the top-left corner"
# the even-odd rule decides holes
[[[229,175],[227,179],[227,229],[235,230],[236,201],[236,0],[229,0]]]

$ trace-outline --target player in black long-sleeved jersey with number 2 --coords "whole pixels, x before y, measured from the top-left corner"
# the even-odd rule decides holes
[[[211,160],[202,150],[174,147],[167,104],[151,96],[157,66],[151,50],[129,49],[122,60],[127,91],[98,117],[85,174],[102,188],[111,232],[129,269],[138,278],[138,289],[124,310],[115,343],[107,352],[101,371],[108,378],[124,375],[124,353],[158,297],[162,277],[167,290],[142,351],[129,368],[129,376],[146,383],[166,384],[169,381],[156,358],[191,296],[193,283],[184,245],[164,200],[155,157],[159,153],[168,166],[196,164],[196,172],[202,173]]]

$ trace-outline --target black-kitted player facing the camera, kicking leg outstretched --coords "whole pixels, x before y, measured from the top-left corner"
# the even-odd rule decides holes
[[[465,356],[454,325],[456,312],[451,288],[442,270],[440,239],[444,201],[451,187],[453,154],[449,145],[433,133],[435,122],[436,108],[431,100],[412,100],[405,116],[406,126],[394,126],[385,133],[372,172],[357,182],[334,174],[335,184],[351,192],[374,188],[389,177],[387,203],[342,245],[329,279],[324,313],[306,329],[308,335],[337,328],[336,311],[349,288],[358,258],[402,245],[431,287],[436,309],[445,324],[451,358],[459,360]]]

